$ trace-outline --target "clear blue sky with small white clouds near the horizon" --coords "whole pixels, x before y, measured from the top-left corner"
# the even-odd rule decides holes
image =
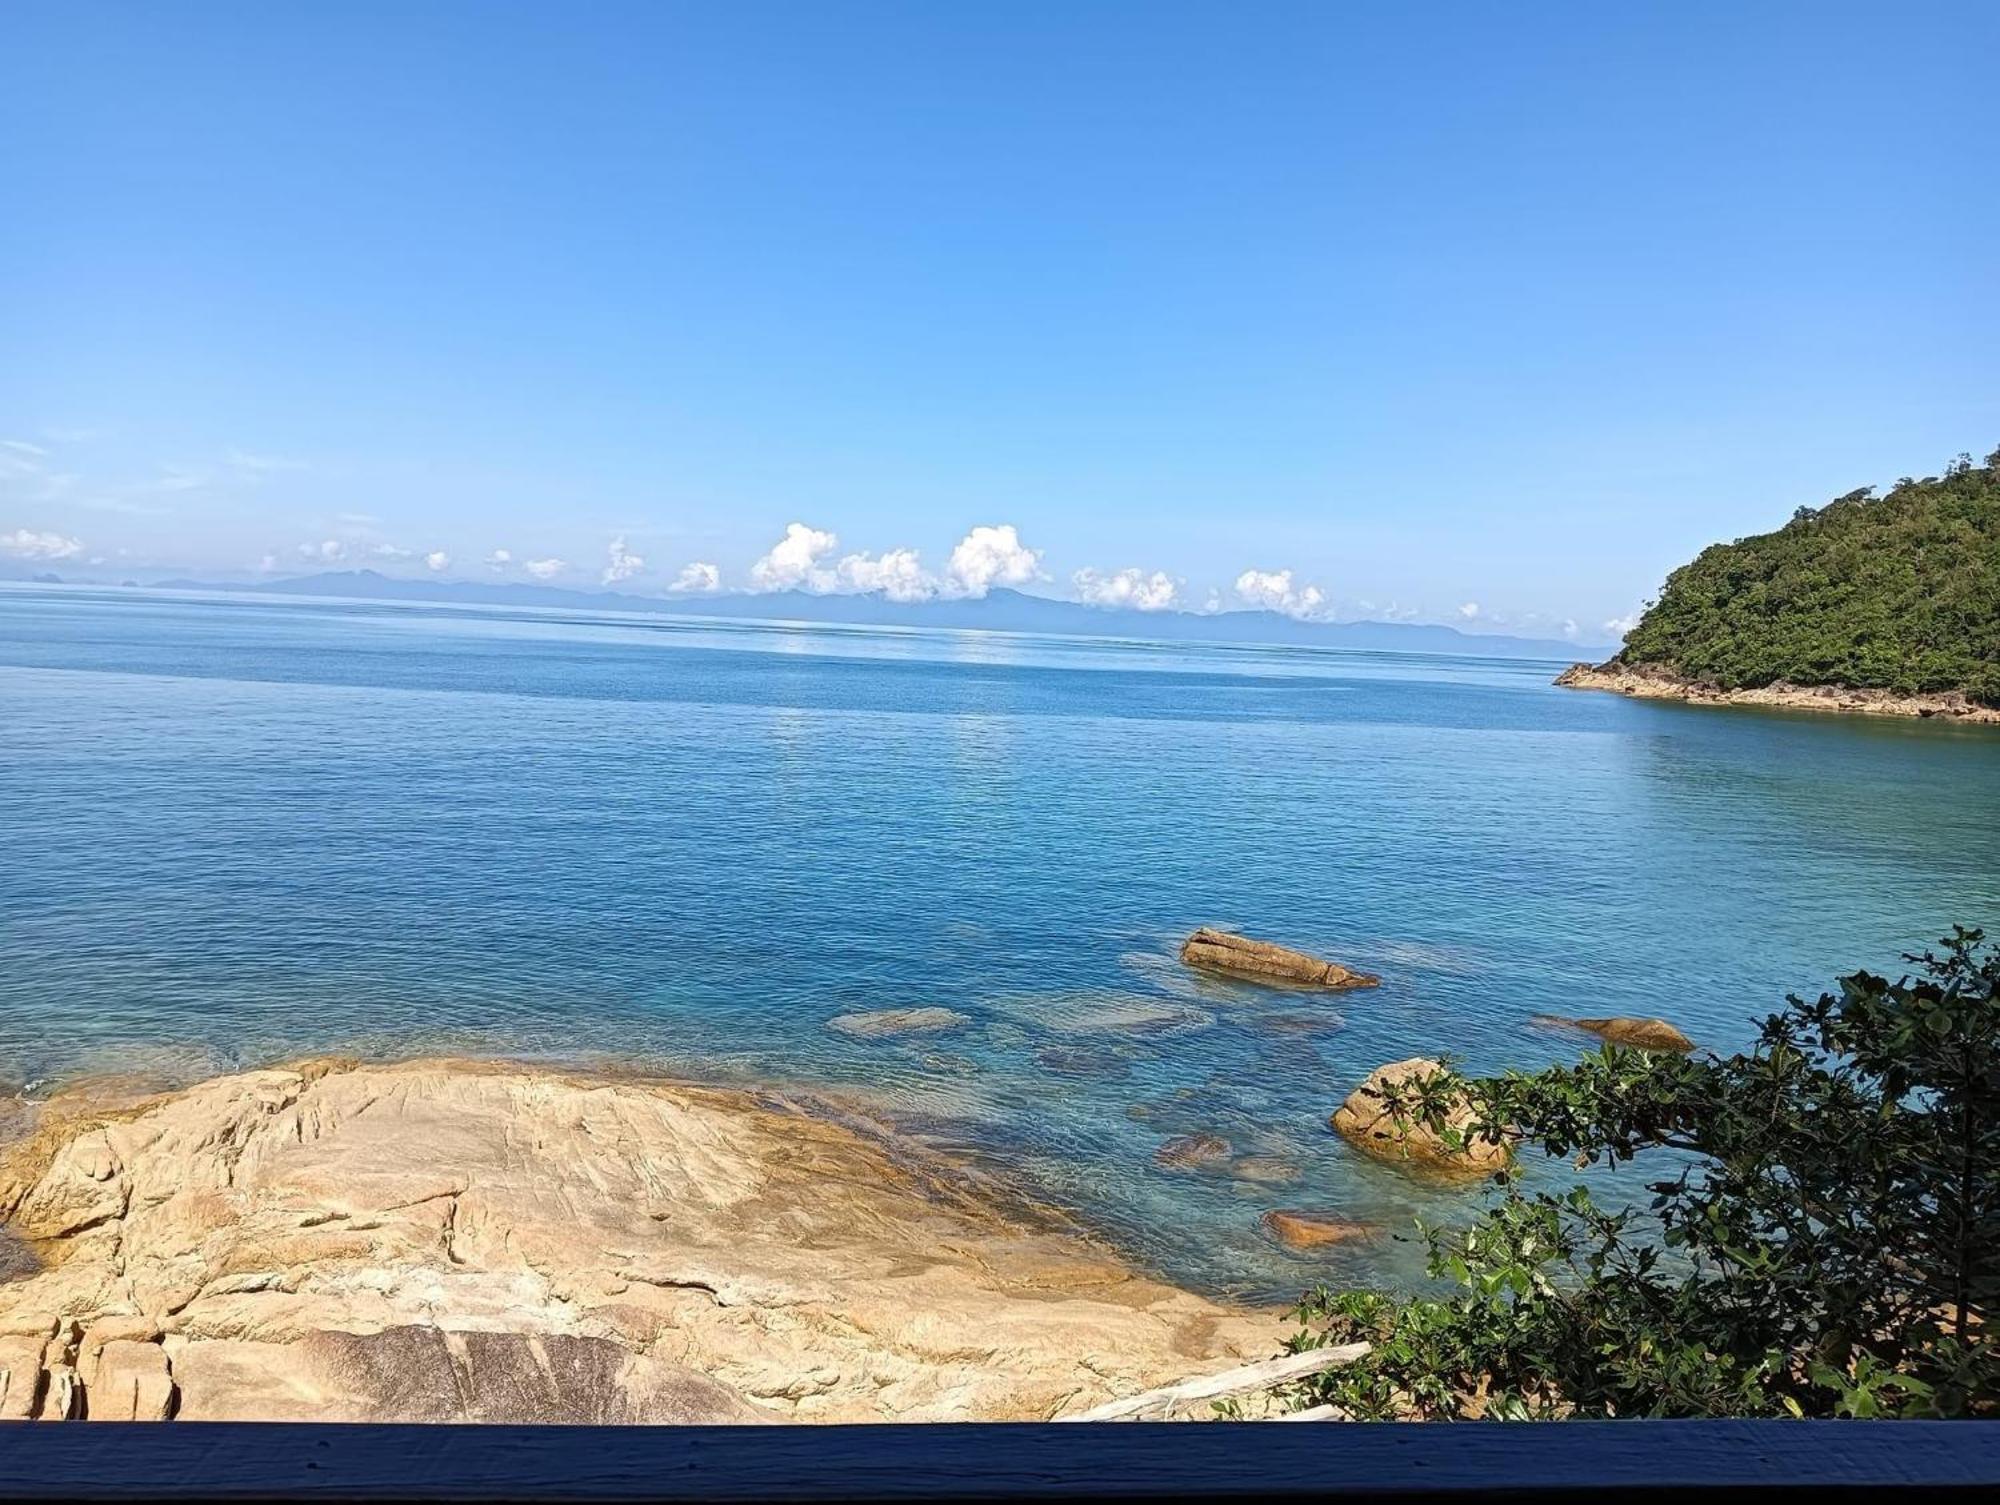
[[[0,8],[0,564],[1586,640],[2000,444],[2000,4]]]

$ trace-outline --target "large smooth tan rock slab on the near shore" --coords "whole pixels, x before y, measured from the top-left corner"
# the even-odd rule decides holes
[[[0,1417],[880,1421],[1266,1357],[954,1167],[782,1099],[546,1069],[252,1071],[0,1153]]]

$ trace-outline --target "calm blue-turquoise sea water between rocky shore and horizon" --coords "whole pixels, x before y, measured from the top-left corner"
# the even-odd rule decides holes
[[[1400,1277],[1268,1207],[1476,1193],[1324,1123],[1372,1067],[1746,1043],[2000,929],[2000,734],[1556,690],[1554,664],[0,588],[0,1079],[302,1051],[852,1089],[1210,1289]],[[1226,925],[1378,971],[1186,975]],[[854,1009],[954,1035],[856,1041]],[[1214,1131],[1296,1185],[1154,1165]]]

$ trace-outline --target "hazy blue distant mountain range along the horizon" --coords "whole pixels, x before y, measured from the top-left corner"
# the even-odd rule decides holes
[[[16,576],[20,578],[20,576]],[[34,578],[58,582],[52,574]],[[838,622],[852,626],[980,628],[988,632],[1056,632],[1092,638],[1152,638],[1166,642],[1272,642],[1318,648],[1390,652],[1454,652],[1486,658],[1574,660],[1606,654],[1610,644],[1560,638],[1518,638],[1460,632],[1426,622],[1300,622],[1268,610],[1142,612],[1086,606],[1076,600],[990,590],[968,600],[900,602],[882,594],[820,596],[774,590],[758,596],[634,596],[620,590],[564,590],[546,584],[484,584],[476,580],[398,580],[376,570],[330,570],[292,580],[216,584],[158,580],[156,590],[228,590],[276,596],[346,596],[358,600],[424,600],[460,606],[542,606],[568,610],[658,612],[664,616],[728,616],[778,622]]]

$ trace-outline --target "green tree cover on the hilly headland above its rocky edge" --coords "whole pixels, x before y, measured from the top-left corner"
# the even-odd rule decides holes
[[[1964,690],[2000,704],[2000,450],[1802,506],[1666,576],[1618,654],[1722,688]]]

